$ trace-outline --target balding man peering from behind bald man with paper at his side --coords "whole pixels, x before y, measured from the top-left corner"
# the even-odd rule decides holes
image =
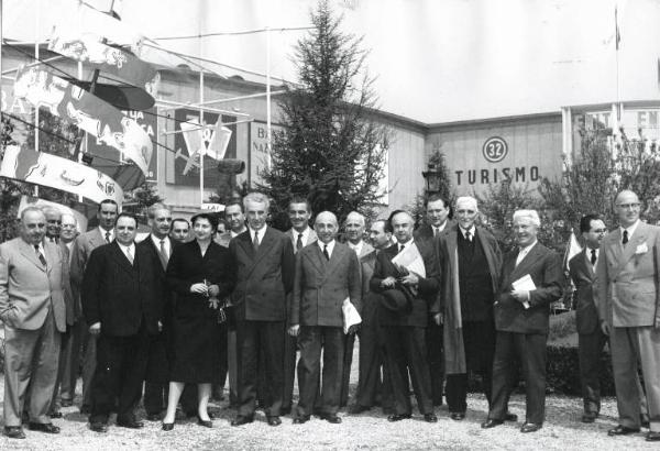
[[[358,255],[358,260],[360,261],[360,265],[362,267],[363,260],[374,252],[374,249],[371,244],[364,242],[364,230],[366,229],[366,221],[364,220],[364,216],[359,213],[358,211],[351,211],[346,216],[346,220],[344,221],[344,232],[346,233],[346,244],[351,248],[355,255]],[[360,273],[362,277],[362,272]],[[371,274],[370,274],[371,278]],[[369,283],[369,280],[367,280]],[[362,282],[360,283],[362,286]],[[343,373],[341,377],[341,397],[340,397],[340,407],[345,407],[349,402],[349,385],[351,382],[351,364],[353,363],[353,346],[355,344],[355,334],[349,333],[344,337],[344,361],[343,361]]]

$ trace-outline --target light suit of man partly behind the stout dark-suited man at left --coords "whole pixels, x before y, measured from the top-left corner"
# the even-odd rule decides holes
[[[111,238],[112,240],[112,238]],[[99,228],[91,229],[87,233],[82,233],[76,238],[76,244],[72,250],[72,285],[74,293],[77,295],[77,301],[81,302],[80,292],[82,287],[82,275],[87,267],[87,262],[91,255],[91,251],[107,244],[106,238],[101,234]],[[97,337],[88,331],[88,324],[85,318],[80,319],[79,327],[82,329],[82,345],[85,352],[82,355],[82,407],[91,407],[91,378],[96,370],[96,344]]]

